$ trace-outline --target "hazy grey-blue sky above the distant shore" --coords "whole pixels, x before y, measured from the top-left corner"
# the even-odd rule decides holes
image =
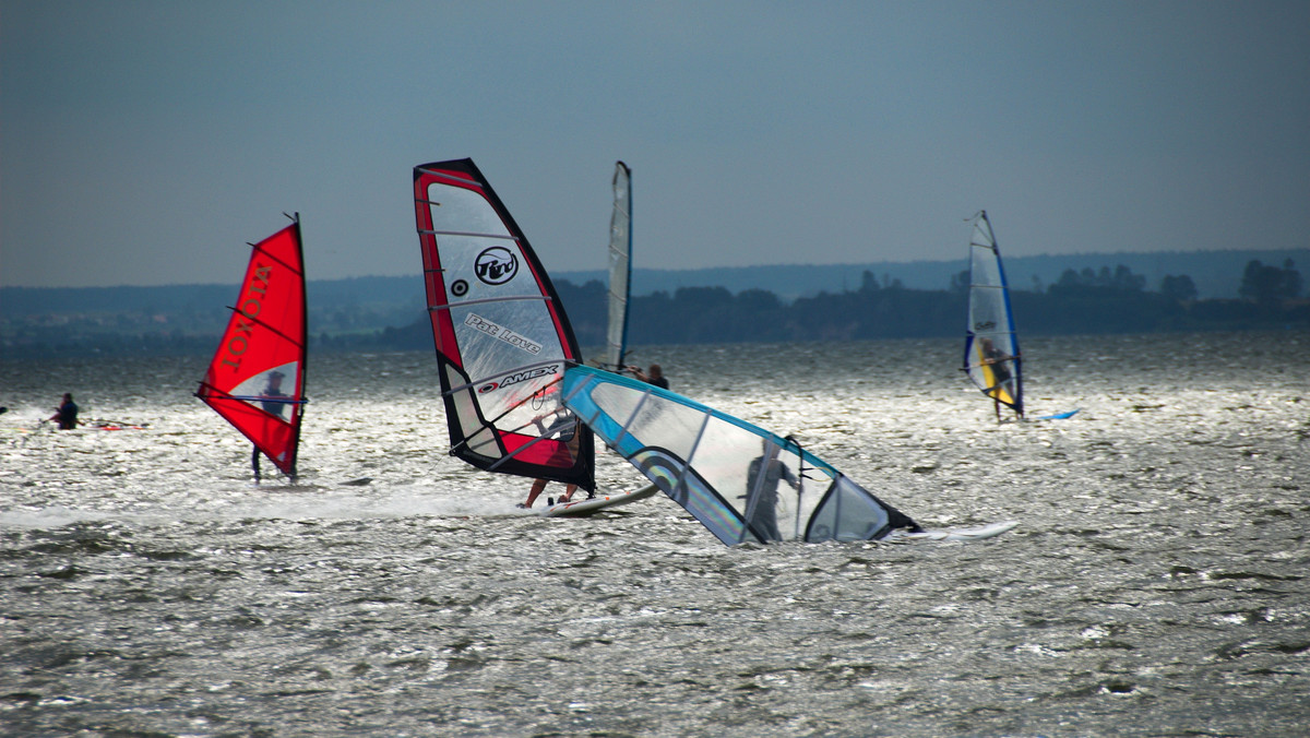
[[[553,273],[616,160],[638,269],[1306,248],[1310,3],[0,0],[0,286],[417,274],[462,157]]]

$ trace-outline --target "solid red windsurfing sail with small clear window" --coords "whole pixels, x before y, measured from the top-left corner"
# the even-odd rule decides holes
[[[237,304],[196,397],[296,477],[305,406],[305,270],[300,214],[252,244]]]

